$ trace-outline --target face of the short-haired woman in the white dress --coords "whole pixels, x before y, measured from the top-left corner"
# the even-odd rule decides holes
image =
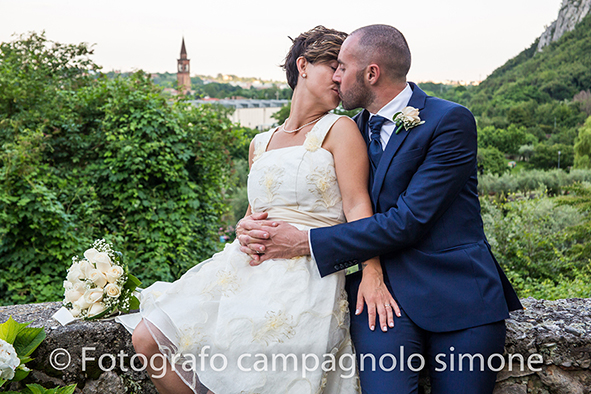
[[[306,68],[308,90],[329,111],[340,102],[339,87],[333,82],[332,75],[338,67],[336,60],[324,63],[308,63]]]

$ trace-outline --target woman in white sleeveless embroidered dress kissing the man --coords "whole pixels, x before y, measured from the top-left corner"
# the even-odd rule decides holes
[[[332,75],[345,37],[318,26],[293,40],[283,65],[291,112],[251,143],[246,216],[268,212],[308,229],[372,215],[363,137],[351,119],[329,113],[340,101]],[[118,318],[158,391],[359,393],[343,271],[321,278],[309,256],[253,267],[239,247],[153,284],[139,314]],[[360,299],[392,327],[379,259],[363,265]]]

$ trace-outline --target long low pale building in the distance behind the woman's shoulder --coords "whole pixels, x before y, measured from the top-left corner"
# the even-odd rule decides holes
[[[206,99],[193,100],[191,104],[220,104],[224,107],[234,108],[234,112],[228,115],[230,120],[241,126],[257,130],[268,130],[277,121],[271,117],[281,107],[287,105],[289,100],[230,100],[230,99]]]

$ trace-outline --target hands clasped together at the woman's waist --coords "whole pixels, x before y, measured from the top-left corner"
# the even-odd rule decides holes
[[[252,217],[253,215],[251,215]],[[252,220],[240,222],[240,250],[251,256],[256,266],[270,259],[289,259],[310,254],[308,233],[281,221]]]

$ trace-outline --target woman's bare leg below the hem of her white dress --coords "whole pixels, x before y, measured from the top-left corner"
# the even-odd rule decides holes
[[[148,364],[145,366],[146,372],[160,394],[193,394],[193,390],[172,370],[168,360],[162,357],[158,344],[154,341],[144,320],[133,331],[131,340],[136,353],[143,354],[148,360]],[[162,375],[162,371],[165,371],[164,376],[152,378],[152,376]],[[203,394],[206,393],[213,394],[210,391],[205,391]]]

